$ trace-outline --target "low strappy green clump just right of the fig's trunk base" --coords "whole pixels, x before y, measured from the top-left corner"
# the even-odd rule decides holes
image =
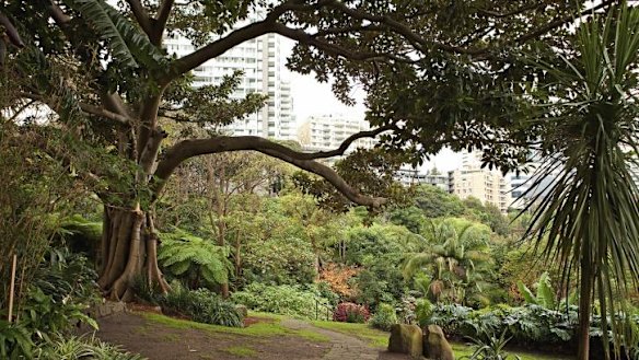
[[[164,312],[178,313],[198,323],[241,327],[244,320],[234,303],[206,289],[186,290],[175,286],[159,302]]]

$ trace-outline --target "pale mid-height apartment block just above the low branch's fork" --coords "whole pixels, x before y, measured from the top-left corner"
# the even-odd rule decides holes
[[[334,150],[349,136],[369,129],[369,123],[345,115],[310,116],[298,129],[298,141],[305,151]],[[347,152],[357,148],[372,148],[373,144],[372,138],[358,139]]]

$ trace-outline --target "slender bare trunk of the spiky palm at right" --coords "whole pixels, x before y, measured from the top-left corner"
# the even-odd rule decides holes
[[[579,335],[577,360],[588,360],[590,357],[590,314],[592,310],[591,295],[593,290],[592,269],[588,260],[581,260],[581,279],[579,286]]]

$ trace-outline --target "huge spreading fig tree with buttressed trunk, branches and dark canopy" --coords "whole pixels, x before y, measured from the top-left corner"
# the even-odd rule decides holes
[[[3,93],[10,117],[34,101],[53,112],[28,129],[104,204],[98,283],[106,295],[127,299],[139,275],[166,288],[152,209],[189,158],[258,151],[320,175],[349,201],[369,207],[385,200],[361,194],[315,160],[385,132],[382,144],[414,150],[416,161],[446,144],[495,144],[487,161],[512,167],[535,136],[504,113],[521,101],[503,94],[525,73],[509,65],[510,54],[539,40],[559,44],[574,7],[547,0],[0,1],[0,85],[11,89]],[[253,21],[256,12],[262,15]],[[163,38],[173,32],[198,48],[169,56]],[[262,106],[257,94],[229,98],[236,78],[191,90],[188,76],[264,34],[294,40],[288,66],[332,79],[342,101],[351,101],[352,81],[361,83],[376,128],[315,153],[259,137],[167,138],[166,118],[223,126]],[[50,137],[66,139],[67,147]]]

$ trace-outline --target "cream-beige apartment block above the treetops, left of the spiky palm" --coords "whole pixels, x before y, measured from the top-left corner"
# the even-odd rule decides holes
[[[449,173],[451,193],[465,199],[475,197],[507,212],[511,202],[507,178],[497,170],[481,169],[479,152],[464,153],[462,167]]]

